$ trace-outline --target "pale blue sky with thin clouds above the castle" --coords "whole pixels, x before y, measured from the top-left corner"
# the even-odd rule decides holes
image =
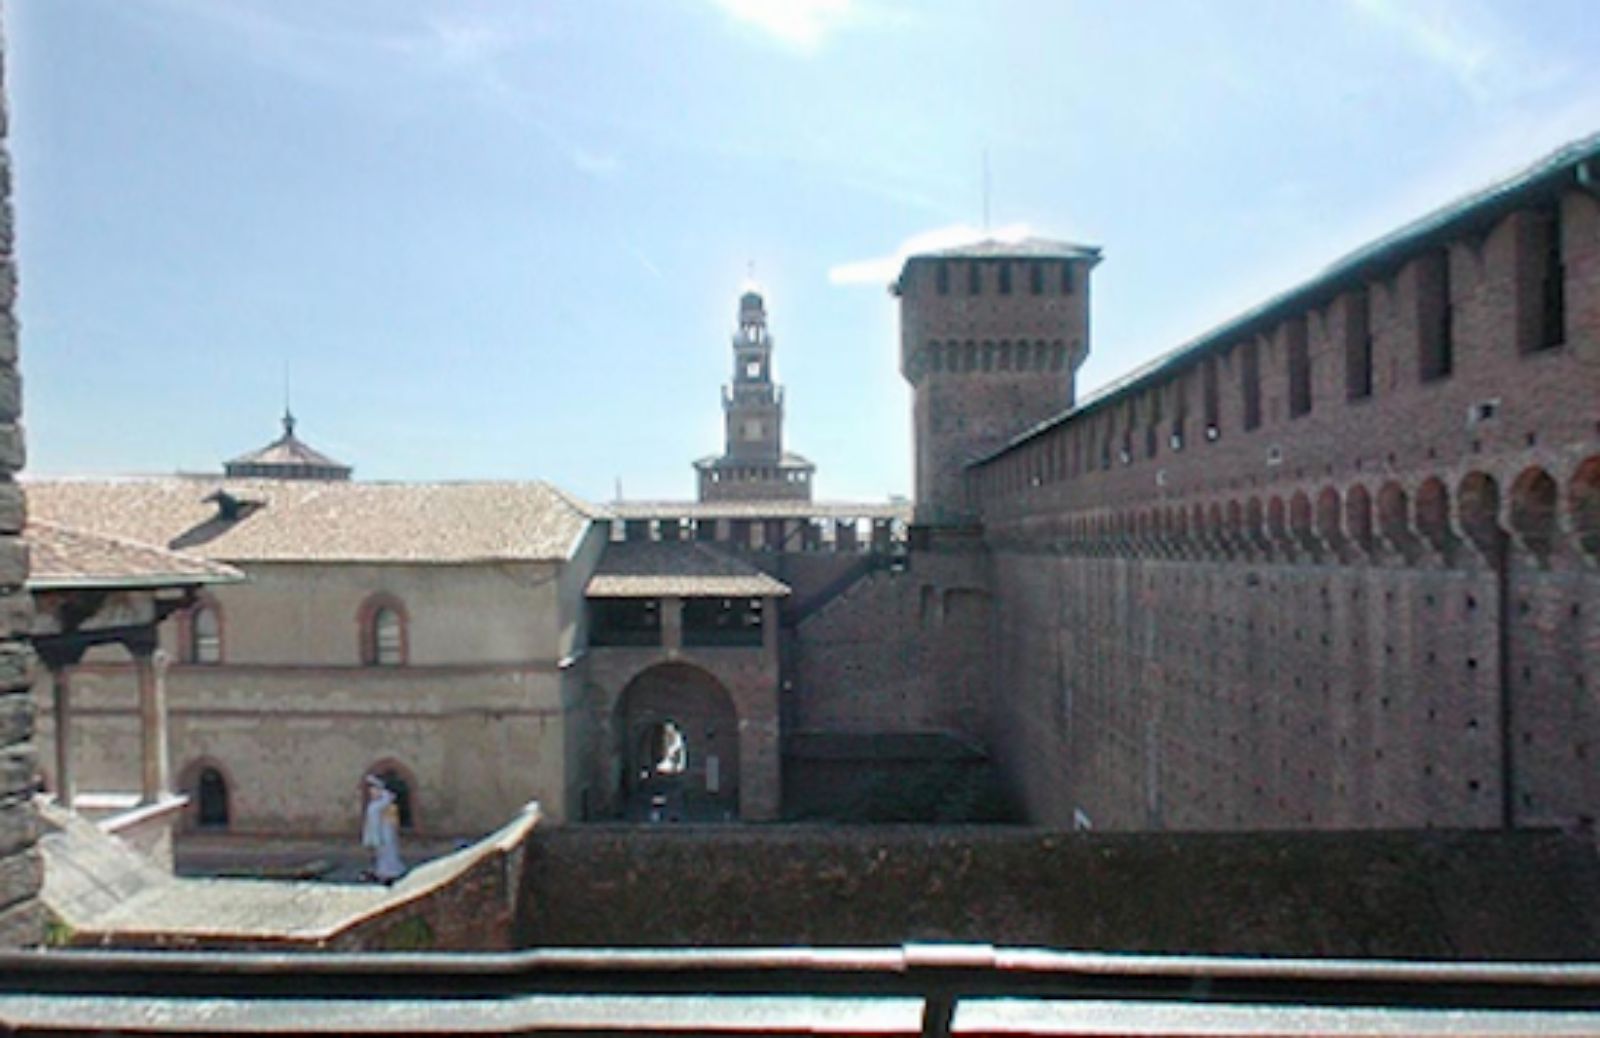
[[[1587,0],[10,0],[32,470],[688,497],[754,264],[822,497],[910,489],[915,243],[1106,250],[1080,392],[1600,130]]]

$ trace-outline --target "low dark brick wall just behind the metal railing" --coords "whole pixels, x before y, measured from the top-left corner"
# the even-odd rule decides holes
[[[518,944],[898,945],[1592,960],[1600,864],[1555,833],[566,827]]]

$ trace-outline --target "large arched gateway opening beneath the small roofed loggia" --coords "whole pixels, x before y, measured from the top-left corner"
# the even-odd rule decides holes
[[[717,678],[691,664],[658,664],[627,683],[616,713],[626,817],[739,817],[739,715]]]

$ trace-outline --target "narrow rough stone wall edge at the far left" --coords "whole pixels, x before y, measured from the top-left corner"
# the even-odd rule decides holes
[[[3,13],[3,8],[0,8]],[[0,48],[3,82],[3,48]],[[0,945],[32,945],[43,936],[34,784],[32,617],[27,549],[22,547],[22,379],[18,373],[16,251],[11,219],[10,114],[0,94]]]

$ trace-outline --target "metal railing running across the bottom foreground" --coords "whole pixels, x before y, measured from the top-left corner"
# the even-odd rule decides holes
[[[14,1033],[1597,1035],[1600,966],[901,948],[0,955]]]

